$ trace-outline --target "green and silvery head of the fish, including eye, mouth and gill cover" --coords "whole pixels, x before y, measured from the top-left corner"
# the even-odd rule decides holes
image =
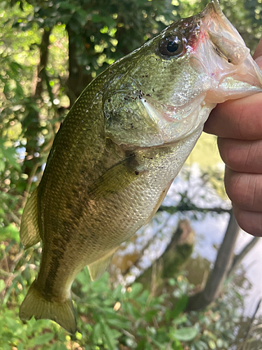
[[[262,72],[217,0],[111,66],[105,130],[117,144],[172,144],[203,130],[217,103],[262,91]]]

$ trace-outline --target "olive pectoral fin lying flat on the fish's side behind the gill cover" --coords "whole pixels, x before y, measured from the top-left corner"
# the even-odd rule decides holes
[[[135,156],[132,155],[117,163],[117,165],[114,165],[96,179],[91,188],[89,188],[89,198],[91,200],[99,200],[101,197],[119,193],[144,172],[137,170]]]

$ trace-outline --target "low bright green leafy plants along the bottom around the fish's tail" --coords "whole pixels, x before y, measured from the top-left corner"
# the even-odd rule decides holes
[[[168,280],[168,293],[154,295],[140,283],[124,288],[112,287],[108,274],[91,283],[87,268],[73,283],[78,327],[75,337],[69,336],[52,321],[25,324],[17,319],[22,302],[22,288],[36,276],[32,256],[20,266],[23,278],[15,275],[11,293],[3,298],[0,318],[0,349],[228,349],[235,335],[232,329],[240,320],[238,309],[242,297],[232,288],[226,299],[218,300],[203,312],[184,314],[185,293],[192,291],[182,274]],[[36,262],[38,265],[38,262]],[[27,269],[25,265],[31,265]],[[19,264],[20,265],[20,264]],[[23,267],[23,268],[22,268]],[[25,269],[24,269],[25,268]],[[176,302],[170,302],[170,298]]]

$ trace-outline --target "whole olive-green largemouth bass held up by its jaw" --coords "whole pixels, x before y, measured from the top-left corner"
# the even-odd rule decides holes
[[[156,213],[217,103],[261,92],[262,73],[217,0],[105,69],[82,92],[24,208],[25,248],[43,241],[20,318],[76,331],[71,284],[92,279]]]

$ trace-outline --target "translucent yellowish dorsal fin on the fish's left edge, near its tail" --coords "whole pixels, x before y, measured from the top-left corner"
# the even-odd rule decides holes
[[[41,241],[38,226],[38,188],[31,194],[24,207],[20,226],[20,241],[25,249]]]

